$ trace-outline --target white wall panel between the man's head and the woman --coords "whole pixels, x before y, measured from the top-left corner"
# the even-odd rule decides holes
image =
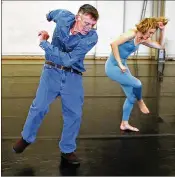
[[[97,25],[99,41],[96,56],[108,56],[110,42],[123,32],[124,1],[97,1],[100,19]]]

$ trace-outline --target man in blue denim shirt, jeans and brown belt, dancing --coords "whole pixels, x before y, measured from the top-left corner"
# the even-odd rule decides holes
[[[40,47],[45,51],[46,61],[22,137],[13,150],[21,153],[35,141],[49,105],[60,96],[64,120],[59,142],[61,157],[71,164],[79,164],[75,150],[84,101],[83,60],[97,43],[98,36],[93,27],[99,15],[96,8],[85,4],[79,8],[77,15],[68,10],[55,10],[46,17],[56,23],[56,28],[51,44],[47,41],[49,35],[46,31],[39,33]]]

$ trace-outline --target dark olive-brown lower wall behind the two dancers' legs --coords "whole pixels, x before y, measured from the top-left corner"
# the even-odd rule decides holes
[[[81,136],[107,136],[119,126],[124,94],[119,84],[104,72],[105,61],[86,61],[83,75],[85,103]],[[163,82],[157,82],[154,61],[129,61],[133,75],[143,84],[143,97],[153,115],[175,115],[175,63],[167,63]],[[29,107],[35,96],[43,61],[2,61],[2,137],[20,136]],[[171,104],[168,104],[171,102]],[[157,105],[157,106],[156,106]],[[132,116],[138,116],[135,105]],[[62,127],[61,104],[51,104],[38,136],[59,136]]]

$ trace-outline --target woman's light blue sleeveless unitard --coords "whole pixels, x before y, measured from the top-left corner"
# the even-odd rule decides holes
[[[128,121],[135,101],[142,99],[142,84],[139,79],[132,76],[126,63],[129,55],[138,49],[138,45],[135,45],[133,39],[119,45],[118,49],[121,62],[125,67],[127,67],[127,71],[122,73],[118,66],[118,62],[116,61],[113,53],[111,53],[105,64],[105,72],[110,79],[121,85],[124,93],[126,94],[127,98],[123,105],[122,120]]]

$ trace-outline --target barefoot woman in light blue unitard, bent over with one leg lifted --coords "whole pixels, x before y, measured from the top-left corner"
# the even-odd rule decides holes
[[[121,85],[127,97],[123,105],[121,130],[139,131],[128,123],[136,101],[143,113],[149,113],[149,109],[142,99],[142,83],[130,73],[126,64],[127,58],[138,49],[140,44],[164,49],[164,31],[167,23],[168,20],[164,17],[145,18],[136,25],[136,29],[129,30],[111,43],[112,52],[106,61],[105,71],[110,79]],[[150,40],[158,28],[160,29],[160,40],[158,42]]]

